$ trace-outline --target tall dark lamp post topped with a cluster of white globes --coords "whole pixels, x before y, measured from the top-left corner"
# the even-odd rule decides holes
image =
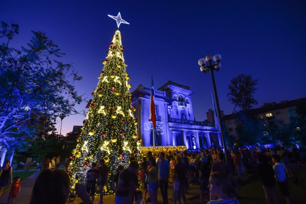
[[[213,59],[215,61],[214,64],[212,63]],[[217,105],[218,119],[219,119],[219,123],[220,123],[221,139],[222,139],[222,144],[223,144],[224,154],[225,154],[225,161],[228,162],[227,161],[228,154],[227,154],[227,151],[226,151],[226,142],[225,142],[224,135],[223,135],[219,99],[218,99],[215,77],[214,77],[214,72],[213,72],[214,70],[219,71],[219,69],[221,67],[220,60],[221,60],[221,55],[220,54],[215,54],[214,57],[213,57],[213,55],[209,54],[209,55],[206,56],[205,59],[204,58],[199,59],[198,64],[201,66],[200,70],[201,70],[202,73],[205,74],[207,71],[211,72],[212,82],[213,82],[213,87],[214,87],[214,94],[215,94],[216,105]],[[206,62],[208,62],[208,65],[206,65]]]

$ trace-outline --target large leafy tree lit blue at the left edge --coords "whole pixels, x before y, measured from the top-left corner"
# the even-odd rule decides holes
[[[38,135],[53,131],[59,116],[77,114],[80,104],[73,82],[82,78],[62,57],[45,33],[32,31],[28,48],[10,48],[18,24],[1,22],[0,30],[0,145],[30,145]],[[47,127],[48,126],[48,127]],[[51,128],[50,128],[51,127]]]

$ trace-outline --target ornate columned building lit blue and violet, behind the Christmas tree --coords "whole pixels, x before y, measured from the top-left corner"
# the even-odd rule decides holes
[[[156,133],[155,146],[186,146],[189,150],[221,146],[220,132],[208,122],[195,121],[189,86],[168,81],[154,89]],[[149,121],[151,88],[142,84],[132,92],[132,105],[136,109],[138,134],[142,146],[153,146],[153,125]]]

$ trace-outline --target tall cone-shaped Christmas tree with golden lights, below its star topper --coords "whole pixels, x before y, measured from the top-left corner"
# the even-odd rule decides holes
[[[140,161],[137,119],[134,118],[135,108],[131,104],[131,86],[128,84],[120,31],[116,30],[112,38],[106,60],[103,61],[104,69],[92,92],[89,111],[67,169],[74,186],[77,182],[86,182],[86,172],[91,163],[104,158],[110,168],[109,181],[104,188],[106,194],[114,193],[111,183],[119,164],[127,167],[130,156]]]

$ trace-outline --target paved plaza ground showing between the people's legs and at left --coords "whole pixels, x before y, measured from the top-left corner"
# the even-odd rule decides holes
[[[32,174],[25,180],[21,181],[21,190],[18,192],[17,197],[14,199],[13,203],[14,204],[28,204],[31,199],[31,194],[32,194],[32,188],[33,185],[35,184],[37,173]],[[7,199],[9,196],[9,190],[3,193],[3,195],[0,197],[0,204],[7,203]],[[172,192],[173,192],[173,186],[169,184],[168,187],[168,200],[169,203],[174,203],[172,199]],[[187,198],[187,203],[188,204],[196,204],[195,202],[193,203],[192,199],[198,198],[199,197],[199,186],[198,185],[190,185],[190,189],[188,190],[188,194],[186,194]],[[147,194],[148,197],[148,194]],[[158,203],[162,203],[162,197],[160,194],[160,191],[158,191]],[[95,196],[95,199],[93,201],[94,204],[98,203],[99,201],[99,196]],[[103,201],[105,204],[115,204],[115,195],[105,195],[103,198]],[[82,200],[80,198],[76,198],[74,200],[67,200],[66,204],[79,204],[81,203]],[[150,202],[149,202],[150,203]],[[182,202],[183,203],[183,202]]]

